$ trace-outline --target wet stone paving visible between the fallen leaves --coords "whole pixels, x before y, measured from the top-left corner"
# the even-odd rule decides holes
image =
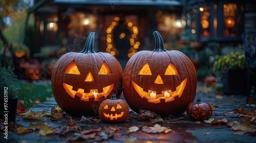
[[[243,107],[245,110],[252,110],[252,107],[246,106],[246,97],[243,95],[216,96],[215,92],[209,90],[210,88],[205,88],[202,83],[198,84],[196,99],[200,97],[202,102],[207,102],[213,105],[216,110],[213,112],[212,117],[219,120],[225,116],[228,119],[228,124],[233,121],[241,122],[242,117],[238,117],[237,114],[230,113],[233,109],[240,109]],[[209,91],[208,91],[209,90]],[[121,97],[122,99],[123,96]],[[195,100],[196,100],[195,99]],[[45,110],[50,113],[52,107],[56,107],[57,104],[54,98],[50,100],[37,104],[36,106],[30,108],[32,111],[41,112]],[[133,116],[135,114],[132,114]],[[126,120],[124,123],[120,124],[107,124],[103,122],[80,123],[79,118],[73,118],[75,124],[79,124],[82,130],[92,130],[101,128],[100,138],[92,139],[77,139],[73,142],[256,142],[256,136],[250,133],[244,135],[233,134],[234,131],[231,130],[227,124],[207,124],[204,122],[191,121],[187,115],[172,116],[172,118],[165,118],[165,123],[158,123],[162,127],[168,127],[172,129],[168,133],[146,133],[141,130],[133,133],[127,132],[128,128],[131,126],[139,127],[143,126],[152,127],[156,123],[151,121],[138,121],[136,118],[130,116],[130,120]],[[97,121],[97,120],[96,120]],[[24,119],[22,116],[17,115],[15,126],[22,125],[28,128],[30,123],[41,123],[45,122],[50,127],[67,127],[67,120],[53,120],[51,117],[42,117],[40,120],[28,120]],[[111,136],[104,138],[104,133],[108,133],[110,127],[118,129],[112,132]],[[113,131],[113,130],[112,130]],[[103,133],[103,134],[102,134]],[[74,134],[74,133],[73,133]],[[110,135],[110,133],[109,133]],[[103,136],[103,137],[102,137]],[[74,138],[73,138],[74,139]],[[4,139],[4,134],[0,135],[0,142],[72,142],[67,140],[65,134],[50,134],[47,136],[39,136],[38,131],[33,131],[25,134],[17,134],[15,131],[10,130],[8,132],[8,139]]]

